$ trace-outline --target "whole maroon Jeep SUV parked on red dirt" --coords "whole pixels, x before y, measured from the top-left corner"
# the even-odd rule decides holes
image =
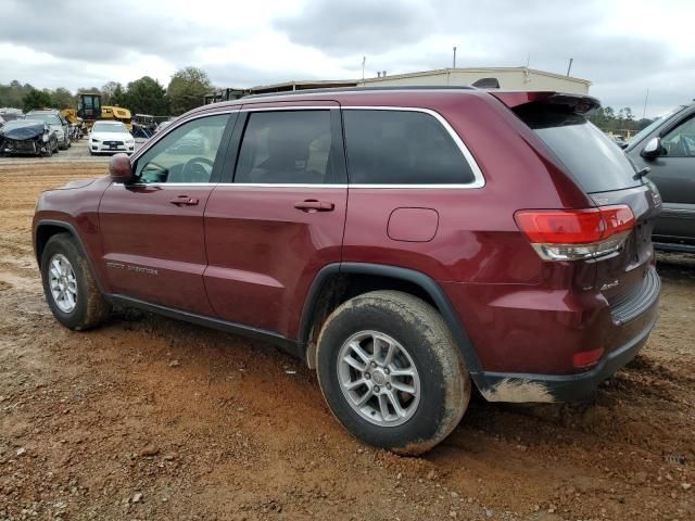
[[[194,110],[45,192],[64,326],[137,307],[270,341],[350,432],[417,454],[489,401],[581,398],[657,319],[658,194],[586,97],[344,89]]]

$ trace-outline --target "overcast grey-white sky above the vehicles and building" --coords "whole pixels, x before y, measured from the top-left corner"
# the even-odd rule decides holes
[[[0,82],[165,86],[204,68],[218,87],[457,65],[530,66],[593,82],[647,117],[695,97],[693,0],[0,0]]]

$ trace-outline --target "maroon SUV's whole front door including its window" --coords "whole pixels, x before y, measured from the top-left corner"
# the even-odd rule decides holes
[[[203,284],[203,214],[232,119],[218,114],[172,128],[136,160],[136,182],[112,183],[104,192],[102,262],[114,293],[213,314]]]

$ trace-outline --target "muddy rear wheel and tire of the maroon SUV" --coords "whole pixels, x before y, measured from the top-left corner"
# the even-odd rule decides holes
[[[375,336],[380,356],[371,367]],[[355,344],[363,355],[350,347]],[[396,355],[386,364],[390,348]],[[432,306],[407,293],[375,291],[340,305],[321,328],[316,356],[329,408],[369,445],[404,455],[425,453],[454,430],[468,407],[470,377],[448,328]],[[346,357],[362,368],[344,363]],[[349,391],[341,382],[363,383]],[[355,404],[370,392],[363,406]]]

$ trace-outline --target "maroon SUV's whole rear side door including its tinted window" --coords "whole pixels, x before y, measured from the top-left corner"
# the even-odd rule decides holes
[[[207,294],[225,320],[295,338],[316,272],[341,259],[339,105],[244,105],[231,149],[205,211]]]

